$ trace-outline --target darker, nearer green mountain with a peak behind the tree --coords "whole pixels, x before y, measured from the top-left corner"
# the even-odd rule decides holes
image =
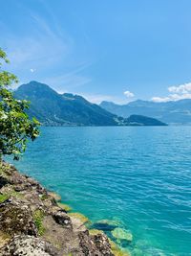
[[[17,99],[30,101],[31,107],[28,111],[30,117],[36,117],[46,126],[147,126],[149,124],[149,120],[145,117],[139,117],[139,121],[137,117],[137,120],[132,122],[131,119],[118,117],[79,95],[58,94],[47,84],[38,81],[22,84],[14,92],[14,96]],[[152,120],[151,125],[158,126],[161,123]]]

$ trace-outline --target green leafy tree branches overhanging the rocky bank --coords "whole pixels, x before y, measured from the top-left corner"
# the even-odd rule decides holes
[[[39,122],[30,120],[25,112],[29,102],[16,100],[10,90],[17,78],[8,71],[2,70],[3,61],[8,63],[6,53],[0,48],[0,159],[3,155],[12,154],[15,160],[26,150],[29,139],[39,135]]]

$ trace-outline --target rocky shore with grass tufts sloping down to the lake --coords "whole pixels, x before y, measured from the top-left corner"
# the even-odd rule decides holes
[[[37,181],[0,163],[0,256],[126,255]]]

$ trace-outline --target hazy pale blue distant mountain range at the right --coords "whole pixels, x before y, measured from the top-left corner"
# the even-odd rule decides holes
[[[135,101],[127,105],[116,105],[102,102],[101,107],[124,118],[135,114],[159,119],[169,125],[191,125],[191,100],[177,102],[154,103],[149,101]]]

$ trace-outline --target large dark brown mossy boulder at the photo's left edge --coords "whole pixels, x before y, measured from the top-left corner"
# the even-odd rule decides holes
[[[0,204],[0,224],[1,231],[10,235],[28,234],[37,236],[30,205],[18,198],[10,198]]]

